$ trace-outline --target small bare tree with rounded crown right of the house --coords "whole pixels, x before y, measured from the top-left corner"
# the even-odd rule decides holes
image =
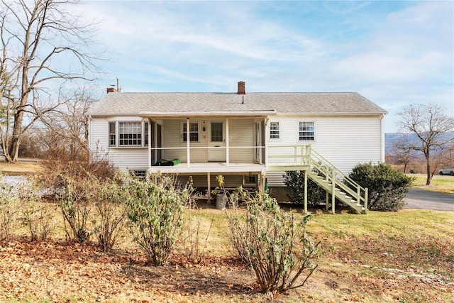
[[[445,148],[454,138],[445,133],[454,128],[454,118],[445,115],[445,110],[436,104],[410,104],[399,112],[402,121],[399,126],[404,131],[404,145],[409,150],[419,150],[426,158],[426,184],[431,184],[431,153]],[[411,135],[416,136],[415,139]]]

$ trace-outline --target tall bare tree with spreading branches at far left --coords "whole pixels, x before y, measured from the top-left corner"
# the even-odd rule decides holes
[[[90,75],[98,72],[96,55],[88,50],[94,43],[89,37],[92,24],[83,25],[65,10],[74,3],[0,0],[0,97],[6,115],[11,114],[2,127],[1,144],[10,162],[18,160],[21,136],[33,123],[64,104],[52,101],[49,86],[93,79]]]

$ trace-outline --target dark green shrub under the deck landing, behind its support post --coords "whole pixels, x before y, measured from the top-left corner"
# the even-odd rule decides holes
[[[287,197],[293,204],[304,204],[304,172],[287,171],[284,175]],[[326,200],[326,192],[316,182],[307,180],[307,206],[315,207]]]

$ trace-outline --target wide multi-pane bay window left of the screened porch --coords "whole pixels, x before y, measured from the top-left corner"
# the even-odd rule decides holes
[[[148,146],[148,122],[109,122],[109,146]]]

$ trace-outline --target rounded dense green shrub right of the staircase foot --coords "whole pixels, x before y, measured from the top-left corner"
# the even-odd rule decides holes
[[[397,211],[405,205],[404,197],[415,177],[407,177],[390,165],[380,163],[358,164],[353,167],[350,178],[369,189],[367,208],[377,211]]]

